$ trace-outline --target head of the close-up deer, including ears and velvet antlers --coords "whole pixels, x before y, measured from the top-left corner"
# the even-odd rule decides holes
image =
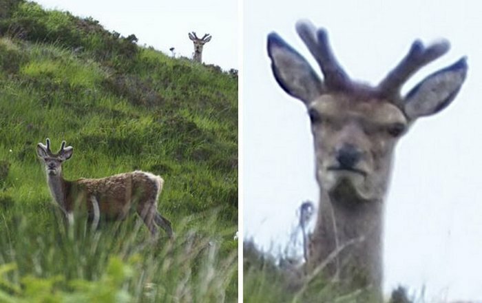
[[[277,83],[308,109],[320,187],[332,193],[348,190],[360,200],[383,198],[395,144],[417,118],[436,114],[454,100],[467,73],[465,58],[401,96],[401,86],[445,54],[448,42],[425,47],[415,41],[399,65],[371,87],[350,80],[333,56],[324,29],[306,21],[296,29],[321,67],[323,81],[276,33],[268,36],[268,52]]]

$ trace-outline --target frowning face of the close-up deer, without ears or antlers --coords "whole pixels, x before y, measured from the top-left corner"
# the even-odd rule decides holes
[[[401,110],[386,101],[323,95],[308,105],[317,180],[328,191],[348,181],[364,199],[385,190],[392,150],[406,132]]]

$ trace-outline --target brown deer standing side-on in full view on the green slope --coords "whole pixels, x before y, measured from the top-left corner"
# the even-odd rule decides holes
[[[62,163],[69,160],[74,151],[72,146],[65,147],[65,144],[65,140],[62,141],[60,150],[54,154],[47,138],[46,145],[37,145],[36,155],[44,165],[50,194],[70,224],[74,222],[76,209],[87,211],[94,230],[101,217],[124,220],[130,210],[135,209],[153,238],[158,233],[157,226],[163,228],[169,238],[173,237],[171,222],[157,210],[163,178],[136,170],[99,179],[65,180]]]

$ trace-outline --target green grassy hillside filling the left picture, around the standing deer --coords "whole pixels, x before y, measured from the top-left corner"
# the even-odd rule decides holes
[[[135,42],[0,0],[0,302],[237,300],[237,74]],[[67,228],[35,155],[47,137],[74,147],[69,180],[162,176],[176,239],[134,217]]]

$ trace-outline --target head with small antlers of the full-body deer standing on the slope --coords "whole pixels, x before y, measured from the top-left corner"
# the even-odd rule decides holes
[[[62,142],[61,149],[57,154],[53,154],[50,150],[50,139],[47,138],[47,145],[39,143],[36,147],[36,154],[45,165],[45,171],[50,176],[61,176],[62,163],[72,157],[73,147],[65,147],[65,141]]]

